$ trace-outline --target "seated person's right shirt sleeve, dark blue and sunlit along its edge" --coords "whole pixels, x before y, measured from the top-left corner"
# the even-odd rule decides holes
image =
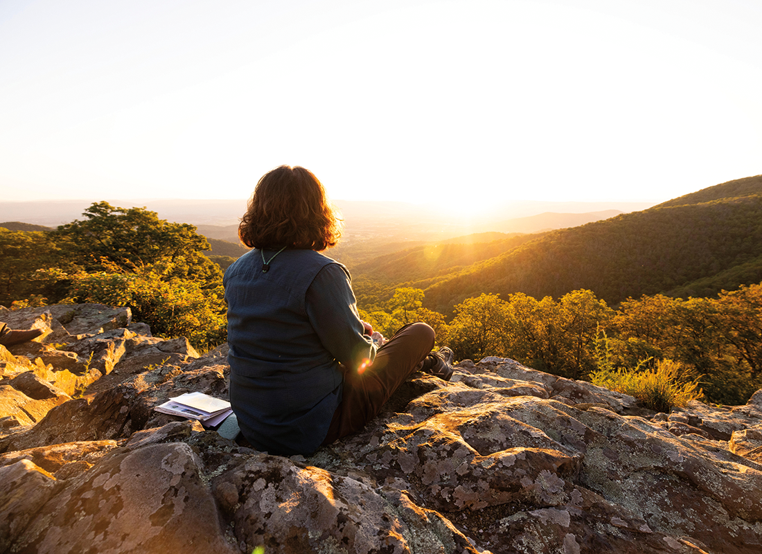
[[[309,322],[325,349],[347,369],[357,370],[376,358],[376,346],[363,334],[349,274],[340,264],[328,264],[306,293]]]

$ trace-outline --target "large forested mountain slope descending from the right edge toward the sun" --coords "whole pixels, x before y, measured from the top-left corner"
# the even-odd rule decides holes
[[[762,280],[762,176],[729,181],[641,212],[548,232],[523,244],[507,241],[504,247],[499,255],[447,273],[428,264],[424,267],[431,272],[424,275],[415,260],[406,273],[402,260],[411,260],[408,251],[397,255],[396,271],[391,270],[392,256],[376,258],[353,274],[362,289],[365,280],[383,280],[392,271],[389,280],[383,280],[395,281],[392,290],[403,284],[421,288],[424,305],[442,313],[480,293],[558,298],[588,289],[610,304],[642,294],[711,296]],[[378,293],[377,283],[375,287]],[[363,290],[357,292],[363,295]]]

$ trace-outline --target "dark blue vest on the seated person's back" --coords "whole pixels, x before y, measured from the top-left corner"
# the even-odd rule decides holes
[[[265,250],[264,256],[270,260],[276,252]],[[314,452],[341,401],[338,362],[305,307],[307,289],[328,264],[338,262],[312,250],[284,250],[263,273],[255,249],[225,272],[230,403],[258,450]]]

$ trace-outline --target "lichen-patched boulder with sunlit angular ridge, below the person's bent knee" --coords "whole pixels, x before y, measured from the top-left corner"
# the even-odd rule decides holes
[[[365,460],[376,479],[415,482],[427,506],[437,510],[547,505],[538,483],[573,475],[580,457],[503,408],[496,402],[395,426],[399,438]]]

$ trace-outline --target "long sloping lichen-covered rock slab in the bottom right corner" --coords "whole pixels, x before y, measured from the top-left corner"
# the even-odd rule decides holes
[[[642,418],[592,408],[578,421],[600,437],[586,442],[582,485],[629,506],[652,530],[722,552],[762,550],[762,468]]]

